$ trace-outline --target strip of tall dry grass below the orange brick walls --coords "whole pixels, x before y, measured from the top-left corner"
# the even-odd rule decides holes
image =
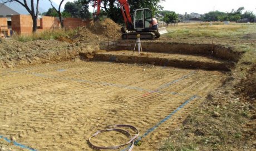
[[[20,42],[28,42],[35,40],[49,40],[49,39],[58,39],[59,37],[72,37],[78,31],[77,29],[55,29],[54,31],[43,31],[36,32],[28,36],[19,36],[14,34],[12,36],[13,39],[16,39]]]

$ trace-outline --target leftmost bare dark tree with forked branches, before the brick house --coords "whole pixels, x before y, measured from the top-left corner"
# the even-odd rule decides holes
[[[30,7],[29,7],[29,0],[2,0],[4,3],[11,3],[11,2],[17,2],[21,4],[24,8],[27,9],[28,13],[32,17],[33,21],[33,27],[32,27],[32,32],[35,33],[37,29],[37,16],[38,16],[38,5],[39,5],[39,0],[36,0],[36,3],[34,3],[34,0],[30,0]]]

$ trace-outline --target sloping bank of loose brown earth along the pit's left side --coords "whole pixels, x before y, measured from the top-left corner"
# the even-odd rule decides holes
[[[63,41],[67,38],[62,37]],[[13,39],[0,41],[0,68],[27,66],[68,60],[77,56],[76,44],[56,40],[19,42]],[[81,46],[82,47],[82,46]]]

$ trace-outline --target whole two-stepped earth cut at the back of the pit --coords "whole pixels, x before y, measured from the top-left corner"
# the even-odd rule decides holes
[[[110,45],[112,44],[112,45]],[[218,44],[191,44],[142,41],[143,53],[134,49],[134,41],[102,44],[100,51],[80,53],[87,61],[152,64],[188,69],[230,71],[243,54]],[[110,45],[110,46],[109,46]]]

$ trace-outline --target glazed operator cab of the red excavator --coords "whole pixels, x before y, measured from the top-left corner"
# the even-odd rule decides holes
[[[152,13],[149,8],[135,10],[134,29],[135,31],[140,31],[140,32],[157,30],[157,21],[156,19],[152,18]]]

